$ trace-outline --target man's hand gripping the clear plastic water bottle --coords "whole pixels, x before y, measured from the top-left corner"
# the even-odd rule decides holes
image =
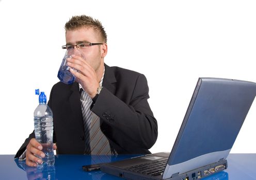
[[[45,154],[42,152],[42,145],[35,139],[30,139],[27,145],[26,151],[26,165],[31,167],[36,167],[37,164],[42,164],[43,161],[39,157],[45,157]],[[53,144],[53,149],[56,150],[57,146]],[[37,156],[38,157],[37,157]]]

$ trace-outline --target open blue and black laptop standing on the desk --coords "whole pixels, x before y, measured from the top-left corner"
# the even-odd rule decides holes
[[[199,78],[170,153],[102,164],[101,171],[125,179],[193,180],[225,170],[255,95],[254,82]]]

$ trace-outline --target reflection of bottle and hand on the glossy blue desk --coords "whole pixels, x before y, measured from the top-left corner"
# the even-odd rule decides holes
[[[55,166],[27,167],[26,173],[28,180],[57,180],[55,179]]]

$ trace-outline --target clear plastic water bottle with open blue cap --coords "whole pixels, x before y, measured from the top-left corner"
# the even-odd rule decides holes
[[[36,89],[36,95],[39,95],[39,89]],[[46,104],[46,96],[44,92],[39,95],[39,105],[34,112],[35,135],[39,143],[43,147],[45,157],[42,158],[42,165],[54,165],[53,151],[53,112]],[[40,157],[41,158],[41,157]]]

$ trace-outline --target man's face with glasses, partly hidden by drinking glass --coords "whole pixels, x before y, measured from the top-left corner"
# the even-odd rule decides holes
[[[81,42],[103,43],[101,35],[91,27],[67,30],[67,45],[76,45]],[[100,67],[103,67],[103,59],[106,55],[104,53],[104,47],[105,45],[94,45],[88,46],[86,49],[80,49],[84,53],[86,61],[95,71],[97,71]]]

